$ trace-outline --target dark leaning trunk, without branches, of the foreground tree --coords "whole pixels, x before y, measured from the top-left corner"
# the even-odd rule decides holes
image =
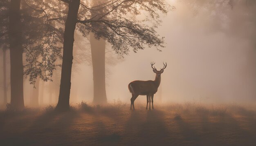
[[[58,97],[57,111],[67,111],[70,108],[70,87],[71,70],[73,60],[74,31],[76,28],[76,18],[79,10],[80,0],[72,0],[68,6],[67,21],[65,23],[63,59],[61,68],[61,85]]]

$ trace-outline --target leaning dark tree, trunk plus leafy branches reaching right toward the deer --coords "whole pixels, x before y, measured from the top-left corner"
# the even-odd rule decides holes
[[[84,36],[93,32],[95,38],[105,38],[110,42],[116,53],[128,54],[129,47],[132,47],[133,51],[136,52],[138,49],[144,49],[144,44],[155,46],[156,48],[159,46],[164,47],[162,45],[164,43],[163,38],[158,38],[155,31],[160,22],[157,11],[162,13],[167,13],[168,11],[168,5],[164,0],[116,0],[96,7],[87,7],[86,4],[80,3],[80,0],[62,1],[69,5],[64,31],[61,86],[56,106],[58,111],[69,110],[72,51],[76,23],[79,23],[78,29]],[[83,10],[78,15],[80,4],[83,6]],[[147,11],[150,17],[154,19],[155,24],[153,27],[148,27],[141,21],[132,21],[124,18],[124,15],[127,16],[133,12],[138,15],[139,10]],[[99,11],[99,13],[91,17],[91,11]],[[111,16],[111,19],[107,19],[106,17],[108,16]]]

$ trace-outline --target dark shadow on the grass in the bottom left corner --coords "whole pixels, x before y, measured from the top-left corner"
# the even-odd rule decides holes
[[[74,118],[79,115],[75,111],[65,113],[46,112],[35,116],[31,125],[25,131],[9,133],[1,144],[5,145],[34,145],[41,146],[47,144],[68,144],[72,142],[69,127],[72,126]],[[20,126],[24,126],[22,119],[16,121]]]

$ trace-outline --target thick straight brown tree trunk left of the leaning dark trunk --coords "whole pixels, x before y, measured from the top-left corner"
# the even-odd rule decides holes
[[[22,36],[20,29],[20,0],[11,0],[9,13],[9,43],[11,65],[11,107],[24,108]]]

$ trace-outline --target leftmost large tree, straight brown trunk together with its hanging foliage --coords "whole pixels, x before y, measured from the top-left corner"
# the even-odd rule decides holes
[[[24,66],[24,73],[30,76],[31,84],[35,84],[38,76],[44,81],[50,80],[56,66],[54,64],[56,55],[61,58],[61,47],[57,47],[56,44],[62,42],[60,38],[63,31],[61,28],[52,27],[53,20],[48,19],[43,9],[46,7],[44,2],[2,0],[0,4],[2,20],[0,42],[9,40],[10,48],[11,107],[22,109],[24,108],[23,51],[28,63]]]

